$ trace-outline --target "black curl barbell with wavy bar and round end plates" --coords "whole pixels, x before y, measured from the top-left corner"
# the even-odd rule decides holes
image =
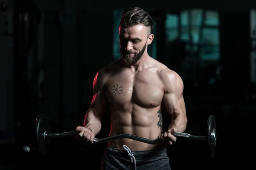
[[[42,156],[46,156],[49,152],[51,138],[61,138],[61,137],[70,137],[70,136],[77,136],[77,131],[70,131],[70,132],[64,132],[64,133],[50,133],[50,123],[46,115],[40,114],[35,122],[35,137],[37,141],[37,148],[39,153]],[[194,140],[203,140],[207,144],[207,148],[209,150],[209,154],[212,159],[215,157],[215,150],[216,150],[216,142],[217,142],[217,136],[216,136],[216,121],[214,116],[209,116],[207,120],[207,129],[206,129],[206,136],[194,136],[190,135],[188,133],[172,133],[173,136],[177,138],[185,138],[185,139],[194,139]],[[110,136],[107,138],[97,139],[93,138],[93,143],[105,143],[110,142],[113,140],[118,139],[133,139],[136,141],[144,142],[147,144],[158,144],[159,139],[146,139],[140,136],[135,136],[131,134],[119,134],[116,136]]]

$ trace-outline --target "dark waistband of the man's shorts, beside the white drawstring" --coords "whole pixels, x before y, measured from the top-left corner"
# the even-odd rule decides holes
[[[156,158],[156,157],[166,157],[167,153],[166,153],[166,148],[161,148],[161,149],[156,149],[156,150],[141,150],[141,151],[133,151],[131,150],[131,153],[134,154],[135,158]],[[106,155],[112,155],[112,156],[120,156],[120,157],[124,157],[124,156],[128,156],[127,155],[127,151],[126,150],[121,150],[121,149],[116,149],[113,147],[106,147],[105,150],[105,154]]]

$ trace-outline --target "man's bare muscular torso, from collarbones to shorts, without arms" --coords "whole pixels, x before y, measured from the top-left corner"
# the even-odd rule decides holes
[[[111,75],[104,85],[111,107],[109,136],[127,133],[154,140],[163,133],[161,103],[164,85],[159,72],[164,65],[157,61],[153,63],[136,73],[130,68],[111,66]],[[108,146],[123,149],[124,144],[130,150],[154,150],[162,147],[131,139],[112,141]]]

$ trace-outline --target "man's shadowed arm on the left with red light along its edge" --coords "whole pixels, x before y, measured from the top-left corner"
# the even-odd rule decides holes
[[[102,117],[105,113],[107,97],[105,95],[105,81],[107,79],[104,71],[100,70],[93,80],[93,99],[84,118],[84,127],[90,129],[96,136],[102,127]]]

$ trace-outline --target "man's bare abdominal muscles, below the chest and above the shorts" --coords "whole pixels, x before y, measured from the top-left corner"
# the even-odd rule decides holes
[[[149,109],[136,109],[133,112],[111,111],[111,130],[109,136],[132,134],[147,139],[157,139],[163,125],[160,106]],[[108,143],[109,147],[123,150],[123,145],[130,150],[154,150],[162,148],[160,144],[146,144],[132,139],[119,139]]]

